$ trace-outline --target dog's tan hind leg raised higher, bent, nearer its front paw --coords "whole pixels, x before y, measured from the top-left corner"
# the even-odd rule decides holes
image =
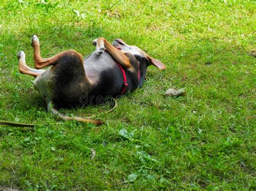
[[[42,58],[40,53],[39,39],[35,34],[32,36],[31,45],[34,49],[34,61],[36,69],[42,69],[47,66],[55,65],[58,62],[59,58],[63,56],[76,55],[82,57],[83,60],[83,56],[74,50],[60,52],[55,56],[52,56],[51,58]]]

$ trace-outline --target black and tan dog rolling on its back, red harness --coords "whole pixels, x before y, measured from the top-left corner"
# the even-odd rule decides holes
[[[153,59],[137,46],[125,44],[121,39],[114,40],[111,45],[100,37],[92,44],[96,46],[96,51],[85,59],[74,50],[43,59],[39,40],[34,35],[31,45],[34,49],[36,69],[26,65],[23,51],[18,52],[19,72],[36,77],[34,87],[43,97],[48,110],[65,121],[102,123],[93,119],[65,116],[60,114],[57,108],[84,104],[81,103],[81,97],[92,100],[91,98],[98,96],[116,97],[126,91],[133,91],[142,86],[148,66],[165,69],[163,63]],[[47,66],[50,67],[42,69]]]

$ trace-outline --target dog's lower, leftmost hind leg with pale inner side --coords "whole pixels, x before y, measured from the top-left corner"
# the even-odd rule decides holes
[[[37,77],[45,71],[44,69],[33,69],[28,67],[28,65],[26,65],[26,55],[23,51],[19,51],[17,57],[19,60],[19,72],[21,74],[28,74]]]

